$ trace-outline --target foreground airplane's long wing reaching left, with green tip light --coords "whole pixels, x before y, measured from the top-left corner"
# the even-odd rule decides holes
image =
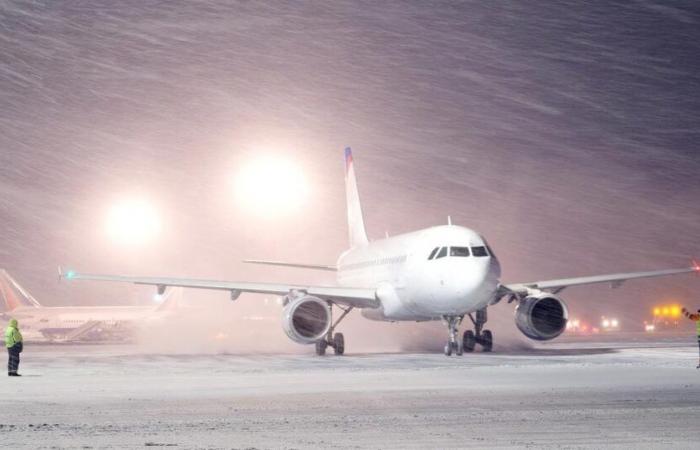
[[[212,289],[229,291],[231,298],[236,299],[242,292],[255,294],[287,295],[290,292],[303,292],[324,300],[341,305],[356,308],[378,308],[379,301],[375,296],[375,290],[369,288],[346,288],[338,286],[313,286],[276,283],[251,283],[236,281],[199,280],[188,278],[161,278],[161,277],[132,277],[124,275],[98,275],[78,273],[75,271],[63,272],[59,268],[59,278],[65,280],[93,280],[113,281],[121,283],[144,284],[156,286],[159,293],[165,292],[165,288],[183,287],[192,289]]]

